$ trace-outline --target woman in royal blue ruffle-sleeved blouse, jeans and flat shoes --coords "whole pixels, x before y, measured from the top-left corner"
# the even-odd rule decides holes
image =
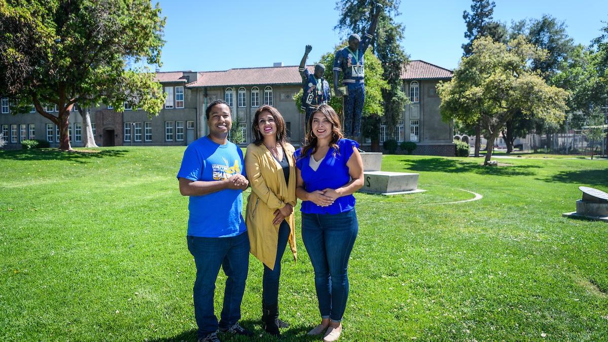
[[[309,332],[336,341],[348,298],[348,257],[359,224],[353,193],[363,186],[359,143],[342,138],[333,108],[319,106],[306,142],[295,151],[295,194],[302,202],[302,240],[314,268],[321,323]]]

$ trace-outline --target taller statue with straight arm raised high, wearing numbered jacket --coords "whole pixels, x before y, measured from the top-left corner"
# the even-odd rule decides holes
[[[344,134],[347,137],[358,139],[361,135],[361,115],[365,102],[365,65],[364,54],[370,46],[371,39],[376,32],[378,17],[382,12],[382,5],[376,4],[371,18],[370,28],[363,39],[353,33],[348,37],[348,46],[336,52],[334,57],[334,94],[337,97],[347,95],[344,98]],[[346,86],[346,94],[338,89],[338,79],[342,72],[342,83]]]

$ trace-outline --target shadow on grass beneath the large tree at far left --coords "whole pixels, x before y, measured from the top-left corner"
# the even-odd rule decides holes
[[[90,160],[105,157],[122,157],[126,153],[122,149],[103,149],[94,152],[63,152],[58,149],[17,149],[2,151],[0,160],[66,160],[67,162],[85,163]]]

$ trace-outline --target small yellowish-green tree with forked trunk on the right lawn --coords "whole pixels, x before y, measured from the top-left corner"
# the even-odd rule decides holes
[[[523,36],[507,44],[480,37],[475,39],[471,55],[454,70],[452,80],[438,85],[444,120],[482,123],[490,146],[485,165],[491,159],[494,140],[517,111],[553,122],[564,120],[567,91],[548,85],[530,69],[531,60],[546,54]]]

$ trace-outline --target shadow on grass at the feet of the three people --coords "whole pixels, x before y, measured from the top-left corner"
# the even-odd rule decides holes
[[[263,329],[260,328],[261,322],[259,320],[240,320],[239,323],[245,327],[246,329],[254,332],[254,337],[244,337],[237,335],[227,335],[225,333],[218,333],[219,339],[221,341],[319,341],[318,336],[309,336],[307,335],[308,330],[312,329],[313,326],[310,327],[288,327],[287,329],[281,329],[281,336],[274,337],[269,333],[266,333]],[[260,337],[260,335],[262,335]],[[179,335],[175,335],[173,337],[168,338],[158,338],[155,340],[150,340],[151,342],[178,342],[178,341],[196,341],[196,329],[188,330],[180,333]]]

